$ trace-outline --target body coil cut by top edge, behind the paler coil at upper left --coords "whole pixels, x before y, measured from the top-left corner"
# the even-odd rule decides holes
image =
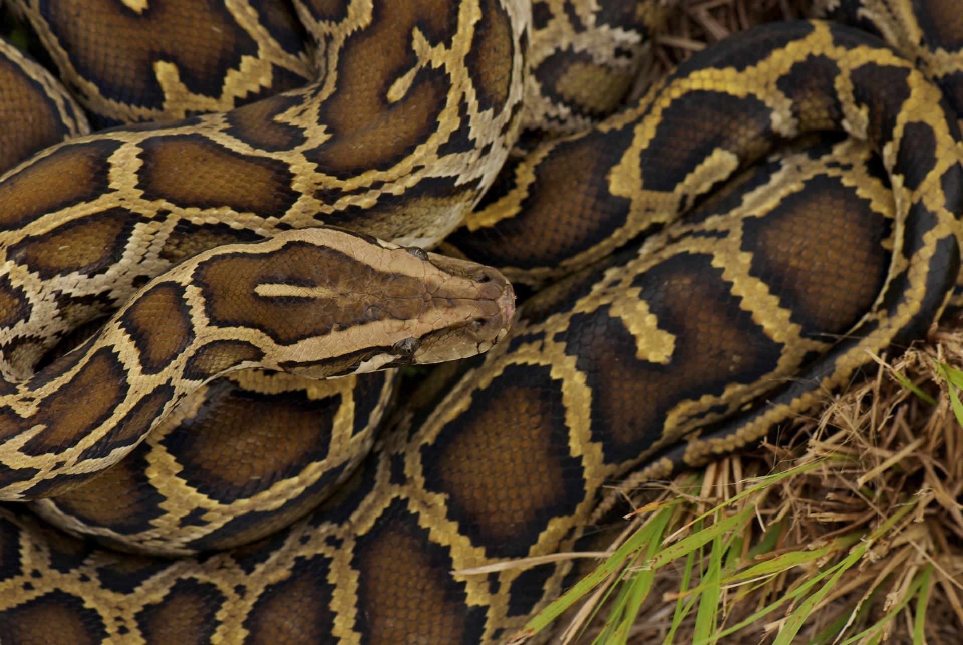
[[[316,75],[307,35],[285,2],[10,5],[36,30],[98,130],[227,112]]]

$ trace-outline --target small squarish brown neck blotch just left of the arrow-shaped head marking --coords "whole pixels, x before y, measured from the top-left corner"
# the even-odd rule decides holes
[[[137,346],[144,374],[162,371],[195,337],[184,287],[175,282],[155,284],[138,296],[120,315],[119,325]]]

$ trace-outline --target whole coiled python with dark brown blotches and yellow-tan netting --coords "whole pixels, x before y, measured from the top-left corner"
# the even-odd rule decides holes
[[[74,129],[0,176],[0,496],[32,500],[0,520],[3,642],[504,643],[571,562],[471,569],[568,551],[607,481],[757,441],[950,302],[958,117],[866,31],[764,25],[602,119],[618,100],[575,100],[564,69],[531,81],[527,60],[571,28],[572,78],[624,76],[638,50],[613,63],[573,36],[615,17],[437,4],[193,4],[218,28],[201,40],[245,52],[218,50],[206,92],[180,47],[146,71],[149,46],[121,56],[129,87],[86,75],[91,43],[161,3],[109,29],[15,4],[67,90],[40,67],[24,87]],[[634,44],[657,4],[618,13]],[[77,105],[107,129],[85,134]],[[539,119],[597,122],[513,148]],[[772,155],[821,130],[853,139]],[[509,280],[554,283],[515,311]],[[451,359],[376,437],[396,377],[364,372]],[[295,443],[230,434],[255,402]]]

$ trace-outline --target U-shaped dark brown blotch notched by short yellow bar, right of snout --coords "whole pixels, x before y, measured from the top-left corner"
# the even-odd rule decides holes
[[[757,382],[776,368],[782,350],[730,294],[711,255],[673,255],[633,286],[641,287],[639,298],[658,328],[675,337],[668,363],[639,360],[636,336],[608,306],[573,315],[568,330],[555,336],[586,375],[592,438],[615,464],[636,459],[659,440],[678,404]]]

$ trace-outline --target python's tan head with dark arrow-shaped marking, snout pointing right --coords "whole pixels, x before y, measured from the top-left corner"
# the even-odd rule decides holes
[[[515,313],[496,269],[347,230],[285,231],[242,248],[198,255],[186,270],[209,324],[252,330],[256,366],[321,379],[454,361],[490,349]]]

